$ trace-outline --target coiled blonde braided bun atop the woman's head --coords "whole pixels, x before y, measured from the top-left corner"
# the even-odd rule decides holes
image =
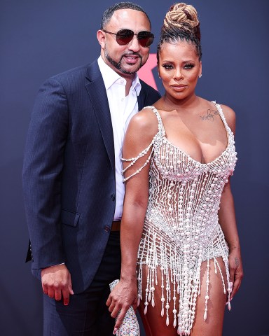
[[[196,38],[200,39],[200,34],[199,36],[196,36],[195,34],[200,27],[197,10],[186,3],[175,3],[171,6],[170,10],[165,15],[163,25],[167,29],[174,26],[186,30],[190,34],[194,34]]]

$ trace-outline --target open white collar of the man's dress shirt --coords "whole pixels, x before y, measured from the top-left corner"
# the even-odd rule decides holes
[[[122,84],[124,83],[124,85],[126,85],[125,78],[121,77],[118,73],[116,73],[116,71],[113,71],[113,69],[111,69],[111,67],[108,66],[104,62],[104,59],[102,59],[101,56],[99,56],[97,62],[98,62],[99,69],[101,71],[101,74],[102,74],[102,77],[103,77],[103,80],[104,80],[104,86],[106,87],[106,90],[108,90],[109,87],[111,87],[118,80],[121,80],[121,81],[123,80],[123,82],[121,82],[121,83]],[[135,77],[132,80],[132,86],[130,88],[130,92],[132,92],[133,90],[135,90],[137,92],[137,96],[139,95],[139,93],[141,91],[141,83],[139,81],[137,73],[135,73]]]

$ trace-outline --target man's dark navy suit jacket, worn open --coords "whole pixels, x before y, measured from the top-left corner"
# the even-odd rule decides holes
[[[142,82],[139,110],[160,94]],[[75,293],[90,286],[116,201],[113,130],[97,61],[48,79],[32,113],[22,185],[32,272],[65,262]]]

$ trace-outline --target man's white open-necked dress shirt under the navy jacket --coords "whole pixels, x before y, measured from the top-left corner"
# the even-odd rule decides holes
[[[106,87],[113,128],[116,171],[116,209],[113,221],[118,221],[123,213],[123,197],[125,193],[121,174],[123,165],[120,160],[122,158],[123,139],[130,119],[138,112],[137,97],[141,91],[141,84],[136,73],[135,78],[132,80],[129,94],[125,96],[125,78],[120,77],[118,73],[113,71],[101,56],[98,58],[98,65]]]

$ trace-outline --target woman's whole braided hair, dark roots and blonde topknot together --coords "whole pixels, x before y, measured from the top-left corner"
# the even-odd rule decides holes
[[[179,40],[191,42],[200,60],[202,57],[200,38],[200,22],[195,8],[186,3],[174,3],[166,13],[163,27],[160,30],[157,60],[159,61],[160,48],[163,43],[173,43]]]

